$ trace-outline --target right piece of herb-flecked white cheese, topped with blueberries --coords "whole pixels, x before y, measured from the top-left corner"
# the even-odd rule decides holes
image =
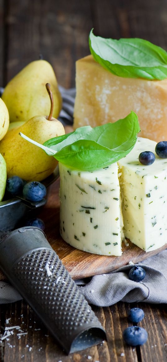
[[[152,251],[167,243],[167,159],[139,163],[142,151],[155,154],[156,142],[138,138],[133,150],[118,161],[124,233],[132,243]]]

